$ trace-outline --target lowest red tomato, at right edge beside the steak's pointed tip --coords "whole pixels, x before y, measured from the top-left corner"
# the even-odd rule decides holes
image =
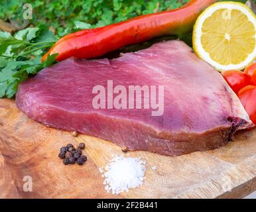
[[[244,87],[239,91],[238,97],[251,121],[256,125],[256,86],[248,85]]]

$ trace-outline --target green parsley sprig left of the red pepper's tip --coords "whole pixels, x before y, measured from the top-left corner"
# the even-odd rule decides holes
[[[56,54],[43,63],[40,58],[56,40],[44,25],[25,28],[14,35],[0,31],[0,98],[13,97],[21,81],[54,63]]]

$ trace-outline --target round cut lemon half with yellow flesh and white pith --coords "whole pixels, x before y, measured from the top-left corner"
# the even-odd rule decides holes
[[[242,3],[211,5],[194,25],[193,48],[217,70],[242,70],[256,57],[255,14]]]

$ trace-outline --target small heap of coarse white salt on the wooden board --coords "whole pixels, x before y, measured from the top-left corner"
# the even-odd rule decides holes
[[[105,178],[103,184],[106,191],[117,194],[142,185],[145,164],[141,158],[114,156],[105,168],[99,168],[99,172],[103,173],[102,176]]]

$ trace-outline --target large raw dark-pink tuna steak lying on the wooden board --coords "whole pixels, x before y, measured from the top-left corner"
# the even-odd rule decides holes
[[[117,89],[114,94],[107,80]],[[124,94],[121,88],[128,92],[129,85],[146,85],[145,92],[149,88],[151,97],[155,94],[157,101],[164,103],[163,111],[157,113],[153,100],[149,102],[143,92],[141,109],[133,105],[137,95],[133,99],[127,93],[127,103],[117,101],[115,97]],[[155,93],[151,85],[157,87]],[[99,87],[105,87],[105,97],[97,91]],[[105,99],[95,101],[99,94]],[[64,60],[21,83],[16,102],[44,125],[97,136],[128,150],[170,156],[218,148],[235,131],[253,126],[222,76],[177,40],[113,60]],[[122,109],[117,109],[117,102],[122,103]],[[95,103],[102,107],[95,109]]]

